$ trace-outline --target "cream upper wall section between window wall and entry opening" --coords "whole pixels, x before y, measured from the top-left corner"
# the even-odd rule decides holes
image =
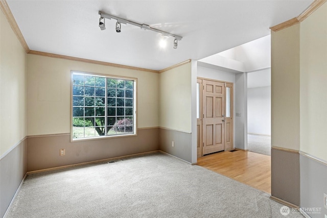
[[[191,63],[160,74],[160,127],[192,132]]]

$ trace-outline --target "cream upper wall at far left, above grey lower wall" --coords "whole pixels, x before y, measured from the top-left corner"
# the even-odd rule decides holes
[[[0,156],[27,135],[26,52],[0,10]]]

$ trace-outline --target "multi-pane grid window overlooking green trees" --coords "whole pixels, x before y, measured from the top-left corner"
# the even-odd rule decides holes
[[[135,134],[136,79],[72,74],[72,138]]]

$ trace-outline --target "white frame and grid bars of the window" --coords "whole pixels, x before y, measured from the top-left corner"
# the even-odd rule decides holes
[[[98,135],[98,136],[90,136],[90,137],[85,137],[85,123],[84,123],[84,137],[80,137],[80,138],[76,138],[74,137],[74,127],[73,127],[73,118],[74,118],[74,114],[73,114],[73,110],[74,110],[74,107],[79,107],[79,106],[74,106],[74,101],[73,101],[73,98],[74,96],[77,97],[77,96],[82,96],[82,95],[74,95],[74,80],[73,80],[73,76],[74,74],[77,74],[77,75],[84,75],[84,76],[92,76],[92,77],[100,77],[100,78],[108,78],[108,79],[116,79],[116,80],[129,80],[129,81],[133,81],[133,107],[132,107],[132,115],[126,115],[124,113],[124,115],[118,115],[116,112],[117,112],[117,108],[118,106],[114,106],[116,109],[115,109],[115,115],[114,116],[108,116],[107,114],[107,111],[108,111],[108,95],[107,95],[107,90],[108,90],[108,87],[107,87],[107,82],[105,82],[105,96],[104,96],[104,99],[105,99],[105,106],[104,106],[104,110],[105,110],[105,115],[104,115],[104,119],[105,119],[105,134],[106,135]],[[106,80],[107,81],[107,80]],[[84,89],[85,87],[85,83],[84,83]],[[92,86],[90,86],[92,87]],[[94,86],[95,88],[97,88],[97,86],[95,85]],[[116,87],[116,89],[118,89]],[[79,116],[79,117],[83,117],[84,120],[85,120],[85,93],[83,94],[83,101],[84,101],[84,105],[83,106],[80,106],[81,108],[83,108],[83,116]],[[96,96],[95,96],[96,98]],[[100,98],[100,97],[99,97]],[[103,97],[102,97],[103,98]],[[119,99],[118,97],[115,97],[115,99]],[[124,96],[124,98],[122,98],[124,100],[126,100],[126,97]],[[137,135],[137,116],[136,116],[136,108],[137,108],[137,78],[130,78],[130,77],[119,77],[119,76],[112,76],[112,75],[103,75],[103,74],[95,74],[95,73],[91,73],[91,72],[82,72],[82,71],[77,71],[77,70],[72,70],[71,71],[71,141],[81,141],[81,140],[94,140],[94,139],[103,139],[103,138],[114,138],[114,137],[128,137],[128,136],[136,136]],[[96,105],[95,106],[91,106],[91,107],[94,107],[95,110],[96,110]],[[102,106],[103,107],[103,106]],[[126,112],[126,108],[130,108],[130,107],[126,107],[125,105],[124,106],[121,106],[120,108],[124,108],[124,111]],[[107,128],[108,125],[107,122],[108,122],[108,117],[115,117],[115,122],[117,122],[117,117],[128,117],[128,116],[133,116],[133,132],[132,133],[124,133],[124,134],[111,134],[111,135],[107,135]],[[94,116],[95,118],[97,117],[96,115]],[[103,116],[101,116],[103,117]],[[76,117],[75,117],[76,118]],[[95,129],[95,127],[94,127]],[[96,131],[95,131],[96,132]]]

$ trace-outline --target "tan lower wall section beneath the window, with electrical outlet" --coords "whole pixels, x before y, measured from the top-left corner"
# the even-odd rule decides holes
[[[71,142],[69,134],[28,137],[27,171],[159,150],[159,129],[139,129],[137,136]],[[65,149],[65,156],[60,156]]]

